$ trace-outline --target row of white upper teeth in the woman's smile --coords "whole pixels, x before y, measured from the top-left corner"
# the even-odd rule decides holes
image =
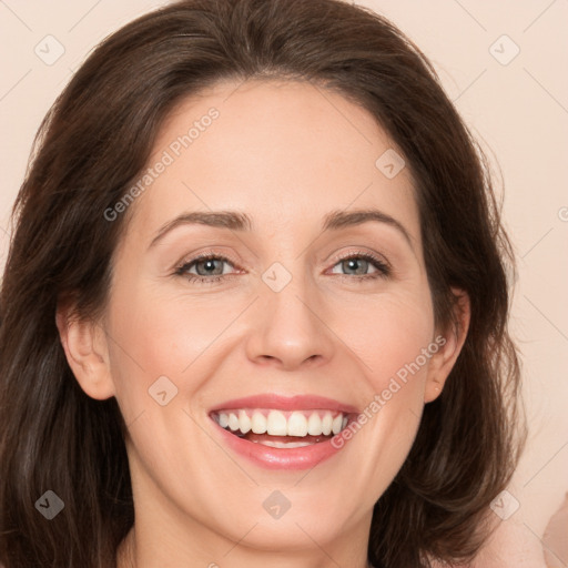
[[[316,410],[310,412],[307,416],[301,412],[286,413],[287,417],[281,410],[268,410],[267,415],[253,410],[251,414],[252,416],[248,416],[244,409],[219,412],[216,420],[221,427],[229,426],[233,432],[241,430],[246,434],[252,430],[254,434],[271,436],[327,436],[332,433],[335,435],[347,425],[347,418],[342,413],[333,417],[331,410],[324,410],[322,417]]]

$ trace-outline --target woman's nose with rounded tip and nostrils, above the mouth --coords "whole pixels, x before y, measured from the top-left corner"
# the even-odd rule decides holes
[[[296,276],[280,292],[262,286],[246,343],[248,358],[284,371],[327,363],[334,334],[315,286]]]

